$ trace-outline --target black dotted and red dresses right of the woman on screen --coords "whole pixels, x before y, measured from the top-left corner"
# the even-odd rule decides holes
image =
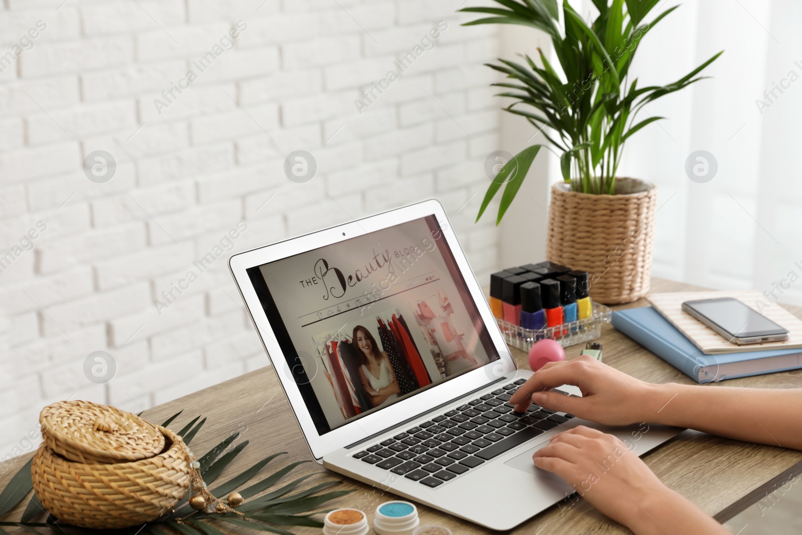
[[[399,383],[401,394],[408,394],[431,384],[429,372],[420,358],[418,347],[401,311],[398,308],[387,310],[383,316],[376,316],[379,337],[383,351],[387,353],[395,371],[395,380]]]

